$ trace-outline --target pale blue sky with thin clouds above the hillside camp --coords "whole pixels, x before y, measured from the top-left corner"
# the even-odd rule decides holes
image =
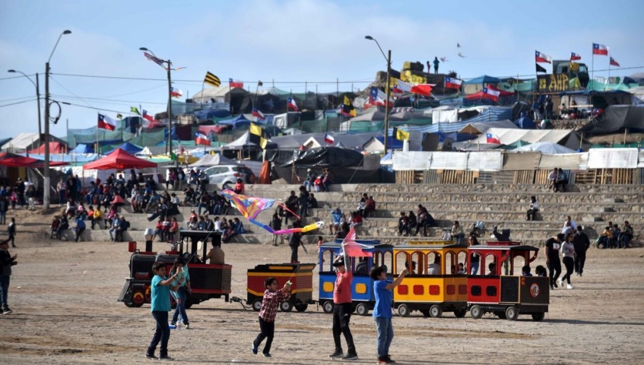
[[[386,60],[365,35],[377,39],[385,53],[392,51],[395,70],[404,61],[424,64],[447,57],[439,71],[454,70],[464,79],[533,77],[535,50],[553,59],[579,53],[591,68],[592,42],[609,46],[621,68],[631,68],[612,68],[611,76],[644,71],[644,1],[566,4],[0,0],[0,138],[38,131],[33,84],[6,70],[39,73],[44,95],[44,64],[63,30],[72,33],[62,36],[52,55],[50,93],[53,100],[74,105],[62,105],[61,120],[50,124],[55,136],[66,135],[67,124],[70,129],[95,126],[97,113],[115,118],[117,112],[129,115],[130,106],[149,113],[166,109],[166,71],[147,61],[140,47],[185,67],[172,72],[173,86],[184,98],[201,90],[206,71],[223,82],[242,80],[251,90],[258,80],[264,88],[300,93],[316,87],[336,91],[336,80],[340,91],[364,89],[377,71],[386,70]],[[465,58],[457,56],[459,51]],[[594,57],[595,76],[608,76],[598,71],[608,68],[609,57]]]

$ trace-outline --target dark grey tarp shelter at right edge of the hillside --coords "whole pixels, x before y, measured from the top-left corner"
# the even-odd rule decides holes
[[[614,105],[606,108],[599,117],[583,126],[580,131],[590,135],[629,132],[644,132],[644,108],[628,105]]]

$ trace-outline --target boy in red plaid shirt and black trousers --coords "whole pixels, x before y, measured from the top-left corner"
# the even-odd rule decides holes
[[[290,298],[290,281],[284,284],[281,289],[278,289],[277,279],[267,277],[264,281],[264,286],[266,290],[261,301],[260,309],[261,332],[257,335],[255,341],[252,341],[252,353],[257,355],[257,348],[260,346],[261,341],[266,339],[262,353],[264,357],[270,357],[270,344],[273,342],[273,333],[275,332],[275,316],[278,314],[279,302],[287,301]]]

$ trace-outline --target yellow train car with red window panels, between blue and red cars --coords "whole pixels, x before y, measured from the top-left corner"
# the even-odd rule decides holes
[[[425,317],[454,312],[464,317],[468,307],[468,246],[453,241],[410,241],[393,248],[393,273],[408,275],[393,290],[393,308],[401,317],[414,310]]]

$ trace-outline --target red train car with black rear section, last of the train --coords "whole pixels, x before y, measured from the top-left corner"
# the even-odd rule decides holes
[[[515,320],[520,314],[544,319],[550,301],[548,277],[522,276],[522,268],[535,261],[539,249],[520,242],[488,241],[468,248],[468,267],[472,259],[480,264],[468,276],[468,309],[473,318],[492,312],[500,318]]]

